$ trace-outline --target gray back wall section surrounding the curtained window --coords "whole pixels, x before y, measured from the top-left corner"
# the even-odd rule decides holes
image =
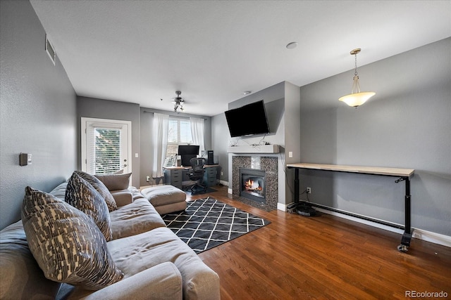
[[[149,185],[146,182],[146,176],[152,176],[152,159],[154,157],[154,145],[152,143],[152,123],[154,122],[154,112],[171,115],[176,117],[196,117],[205,119],[204,124],[204,143],[205,150],[214,150],[211,146],[211,117],[206,117],[202,115],[192,115],[183,112],[170,112],[167,110],[154,110],[152,108],[141,107],[140,109],[140,126],[141,126],[141,136],[140,136],[140,149],[141,149],[141,178],[140,186]],[[216,151],[214,150],[214,155]],[[219,162],[221,164],[221,161]],[[159,182],[161,183],[161,182]]]

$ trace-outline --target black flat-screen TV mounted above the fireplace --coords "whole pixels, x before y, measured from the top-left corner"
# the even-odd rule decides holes
[[[231,137],[269,133],[263,100],[228,110],[226,119]]]

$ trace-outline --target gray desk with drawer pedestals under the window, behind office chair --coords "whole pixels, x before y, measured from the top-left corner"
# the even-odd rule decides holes
[[[204,165],[204,184],[208,187],[216,185],[219,164]],[[164,182],[174,185],[176,188],[183,187],[183,181],[189,181],[187,173],[191,167],[164,167]]]

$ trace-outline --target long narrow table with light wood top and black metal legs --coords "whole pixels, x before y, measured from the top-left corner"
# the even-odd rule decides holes
[[[410,178],[414,176],[414,169],[398,169],[398,168],[385,168],[385,167],[364,167],[364,166],[349,166],[340,164],[309,164],[309,163],[298,163],[298,164],[287,164],[288,169],[295,169],[295,202],[299,202],[299,169],[315,169],[315,170],[325,170],[325,171],[338,171],[346,173],[357,173],[357,174],[369,174],[369,175],[380,175],[380,176],[393,176],[398,177],[395,183],[400,181],[405,182],[405,196],[404,196],[404,234],[402,235],[401,244],[398,245],[397,249],[401,252],[406,252],[410,246],[410,240],[412,240],[412,227],[410,223]],[[323,207],[317,204],[312,204],[317,207],[322,207],[328,209],[328,207]],[[362,218],[357,214],[352,214],[357,218]]]

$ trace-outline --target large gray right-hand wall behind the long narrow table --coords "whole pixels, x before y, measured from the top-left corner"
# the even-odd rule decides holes
[[[359,67],[357,110],[340,103],[353,70],[301,87],[301,160],[415,169],[412,226],[451,235],[451,38]],[[300,190],[330,207],[404,224],[396,178],[303,171]]]

